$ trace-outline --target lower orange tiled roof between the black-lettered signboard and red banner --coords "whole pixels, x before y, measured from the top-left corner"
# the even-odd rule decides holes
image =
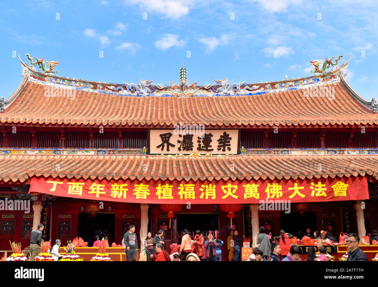
[[[273,180],[365,175],[378,179],[376,155],[4,155],[0,161],[3,182],[25,182],[33,176],[108,180]]]

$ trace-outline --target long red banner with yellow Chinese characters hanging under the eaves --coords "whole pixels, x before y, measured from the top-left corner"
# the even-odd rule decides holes
[[[364,177],[304,180],[91,180],[31,178],[30,192],[135,203],[325,202],[369,199]]]

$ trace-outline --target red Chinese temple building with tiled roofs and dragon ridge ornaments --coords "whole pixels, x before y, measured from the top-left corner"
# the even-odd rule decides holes
[[[346,81],[342,56],[310,61],[304,78],[208,85],[184,65],[178,84],[115,84],[26,57],[0,101],[0,250],[28,246],[41,222],[62,246],[162,229],[166,250],[183,229],[223,241],[236,229],[253,246],[260,226],[298,238],[377,229],[378,105]],[[29,213],[11,200],[31,200]]]

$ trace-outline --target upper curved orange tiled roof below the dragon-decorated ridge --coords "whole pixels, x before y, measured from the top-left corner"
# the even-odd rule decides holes
[[[310,126],[378,124],[378,116],[350,95],[342,82],[335,98],[305,97],[303,90],[263,95],[130,97],[76,91],[76,98],[45,97],[45,85],[28,82],[0,113],[1,123],[61,125]]]

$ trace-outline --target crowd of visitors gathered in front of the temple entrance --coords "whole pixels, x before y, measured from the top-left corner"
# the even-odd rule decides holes
[[[36,230],[33,230],[30,238],[31,261],[39,253],[41,243],[43,224],[39,224]],[[146,252],[147,261],[221,261],[222,246],[224,242],[219,238],[214,238],[210,233],[207,240],[197,230],[194,236],[184,229],[181,244],[176,239],[172,239],[169,246],[170,252],[164,249],[164,231],[159,230],[155,236],[149,231],[144,240],[143,249]],[[320,239],[318,231],[311,233],[310,228],[306,229],[305,236],[311,239]],[[298,245],[292,245],[290,239],[294,236],[281,230],[279,236],[269,237],[263,226],[260,227],[257,234],[257,247],[253,248],[253,253],[248,256],[247,261],[302,261],[300,258],[302,249]],[[239,236],[237,230],[231,230],[227,237],[227,251],[229,261],[241,261],[240,251],[245,236]],[[274,239],[274,242],[273,242]],[[336,242],[336,238],[328,232],[325,239]],[[377,230],[373,230],[369,237],[369,243],[372,245],[373,240],[378,240]],[[347,261],[368,261],[366,254],[358,247],[360,237],[358,234],[350,233],[345,239],[349,252]],[[51,247],[50,253],[57,261],[62,255],[59,254],[60,239],[56,239],[55,244]],[[136,261],[138,252],[138,239],[135,234],[135,225],[129,225],[129,230],[125,232],[122,240],[125,246],[127,261]],[[308,248],[307,259],[305,261],[328,261],[325,247],[319,248],[319,254],[316,256],[314,247]]]

